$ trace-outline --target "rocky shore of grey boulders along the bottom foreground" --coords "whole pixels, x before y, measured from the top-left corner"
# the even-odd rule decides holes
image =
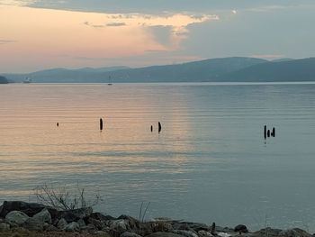
[[[104,237],[311,237],[298,228],[279,230],[266,228],[257,232],[239,224],[234,228],[215,223],[189,223],[166,218],[141,222],[131,216],[118,218],[93,212],[91,207],[60,211],[56,208],[20,201],[0,206],[2,236],[104,236]]]

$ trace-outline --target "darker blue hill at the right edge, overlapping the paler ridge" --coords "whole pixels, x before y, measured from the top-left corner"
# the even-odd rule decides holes
[[[266,62],[221,75],[220,81],[315,81],[315,58]]]

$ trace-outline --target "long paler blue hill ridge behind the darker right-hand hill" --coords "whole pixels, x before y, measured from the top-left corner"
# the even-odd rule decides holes
[[[114,83],[213,81],[222,74],[265,62],[265,59],[234,57],[146,68],[53,68],[30,74],[7,74],[6,77],[17,82],[30,77],[37,83],[106,83],[109,78]]]

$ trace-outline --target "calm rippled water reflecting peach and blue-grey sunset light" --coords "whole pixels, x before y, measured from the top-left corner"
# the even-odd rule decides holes
[[[97,210],[315,231],[315,84],[4,85],[0,202],[43,183]],[[99,131],[103,117],[104,130]],[[162,132],[157,133],[157,122]],[[59,123],[59,127],[56,123]],[[150,132],[150,125],[154,131]],[[263,125],[276,138],[263,139]]]

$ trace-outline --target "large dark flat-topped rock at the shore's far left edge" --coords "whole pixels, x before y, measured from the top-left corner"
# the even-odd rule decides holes
[[[41,204],[25,203],[20,201],[4,201],[2,208],[0,208],[0,217],[4,217],[6,214],[11,213],[12,211],[20,211],[24,214],[27,214],[28,216],[33,216],[34,214],[39,213],[45,207],[45,205]]]

